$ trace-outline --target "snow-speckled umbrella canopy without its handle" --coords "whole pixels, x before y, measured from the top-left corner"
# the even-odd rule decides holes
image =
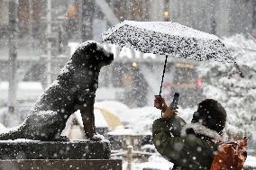
[[[124,21],[105,31],[103,41],[144,53],[233,63],[224,43],[215,35],[177,22]]]

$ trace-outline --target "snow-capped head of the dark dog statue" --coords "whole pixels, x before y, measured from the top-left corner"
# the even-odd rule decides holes
[[[71,59],[77,64],[101,68],[109,65],[113,61],[114,55],[105,50],[100,43],[87,40],[79,45]]]

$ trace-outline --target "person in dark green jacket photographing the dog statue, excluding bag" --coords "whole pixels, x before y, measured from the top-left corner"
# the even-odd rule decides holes
[[[156,96],[155,107],[163,112],[153,122],[153,143],[163,157],[174,163],[173,170],[210,169],[223,141],[222,130],[226,121],[224,107],[213,99],[198,103],[191,124],[177,116],[172,104],[167,106],[161,96]]]

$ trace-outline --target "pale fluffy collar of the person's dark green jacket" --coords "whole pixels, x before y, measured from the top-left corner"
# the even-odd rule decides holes
[[[193,129],[196,134],[206,136],[214,142],[224,141],[224,137],[219,135],[215,130],[207,129],[206,126],[202,125],[201,123],[189,123],[185,125],[181,130],[181,136],[186,136],[187,130],[189,129]]]

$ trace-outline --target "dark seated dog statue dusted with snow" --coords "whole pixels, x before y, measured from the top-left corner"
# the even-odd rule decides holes
[[[0,140],[64,140],[60,137],[69,116],[80,110],[88,139],[95,134],[94,103],[101,67],[114,59],[96,41],[86,41],[75,51],[57,80],[41,95],[23,123],[0,134]]]

